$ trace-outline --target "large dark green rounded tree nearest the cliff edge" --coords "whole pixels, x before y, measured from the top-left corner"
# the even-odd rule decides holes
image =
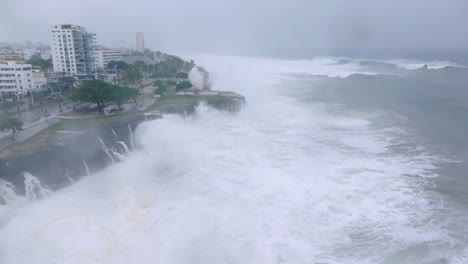
[[[104,113],[104,105],[112,101],[112,86],[102,80],[85,81],[73,91],[71,99],[83,103],[97,104],[100,114]]]

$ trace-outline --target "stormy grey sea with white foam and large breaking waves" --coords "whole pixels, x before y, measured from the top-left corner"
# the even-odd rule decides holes
[[[44,199],[0,182],[0,263],[468,263],[463,65],[194,59],[244,108],[144,122]]]

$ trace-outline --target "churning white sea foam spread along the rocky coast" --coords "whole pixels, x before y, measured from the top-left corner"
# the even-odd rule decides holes
[[[431,155],[388,152],[387,128],[271,87],[321,66],[197,62],[246,108],[143,123],[125,161],[18,211],[1,263],[415,263],[430,254],[407,248],[447,247],[420,177]]]

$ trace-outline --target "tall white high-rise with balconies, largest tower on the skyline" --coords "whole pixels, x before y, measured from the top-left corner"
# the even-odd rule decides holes
[[[51,53],[55,72],[65,75],[92,74],[96,71],[96,35],[84,27],[63,24],[52,26]]]

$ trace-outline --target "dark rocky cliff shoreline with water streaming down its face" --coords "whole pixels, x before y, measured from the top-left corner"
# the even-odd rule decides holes
[[[145,112],[61,120],[30,139],[3,149],[0,180],[11,183],[17,194],[25,195],[23,174],[30,173],[48,189],[58,190],[90,172],[124,160],[135,148],[133,131],[141,122],[163,114],[193,114],[202,101],[229,112],[237,112],[245,104],[243,96],[231,92],[209,98],[171,96],[158,100]]]

